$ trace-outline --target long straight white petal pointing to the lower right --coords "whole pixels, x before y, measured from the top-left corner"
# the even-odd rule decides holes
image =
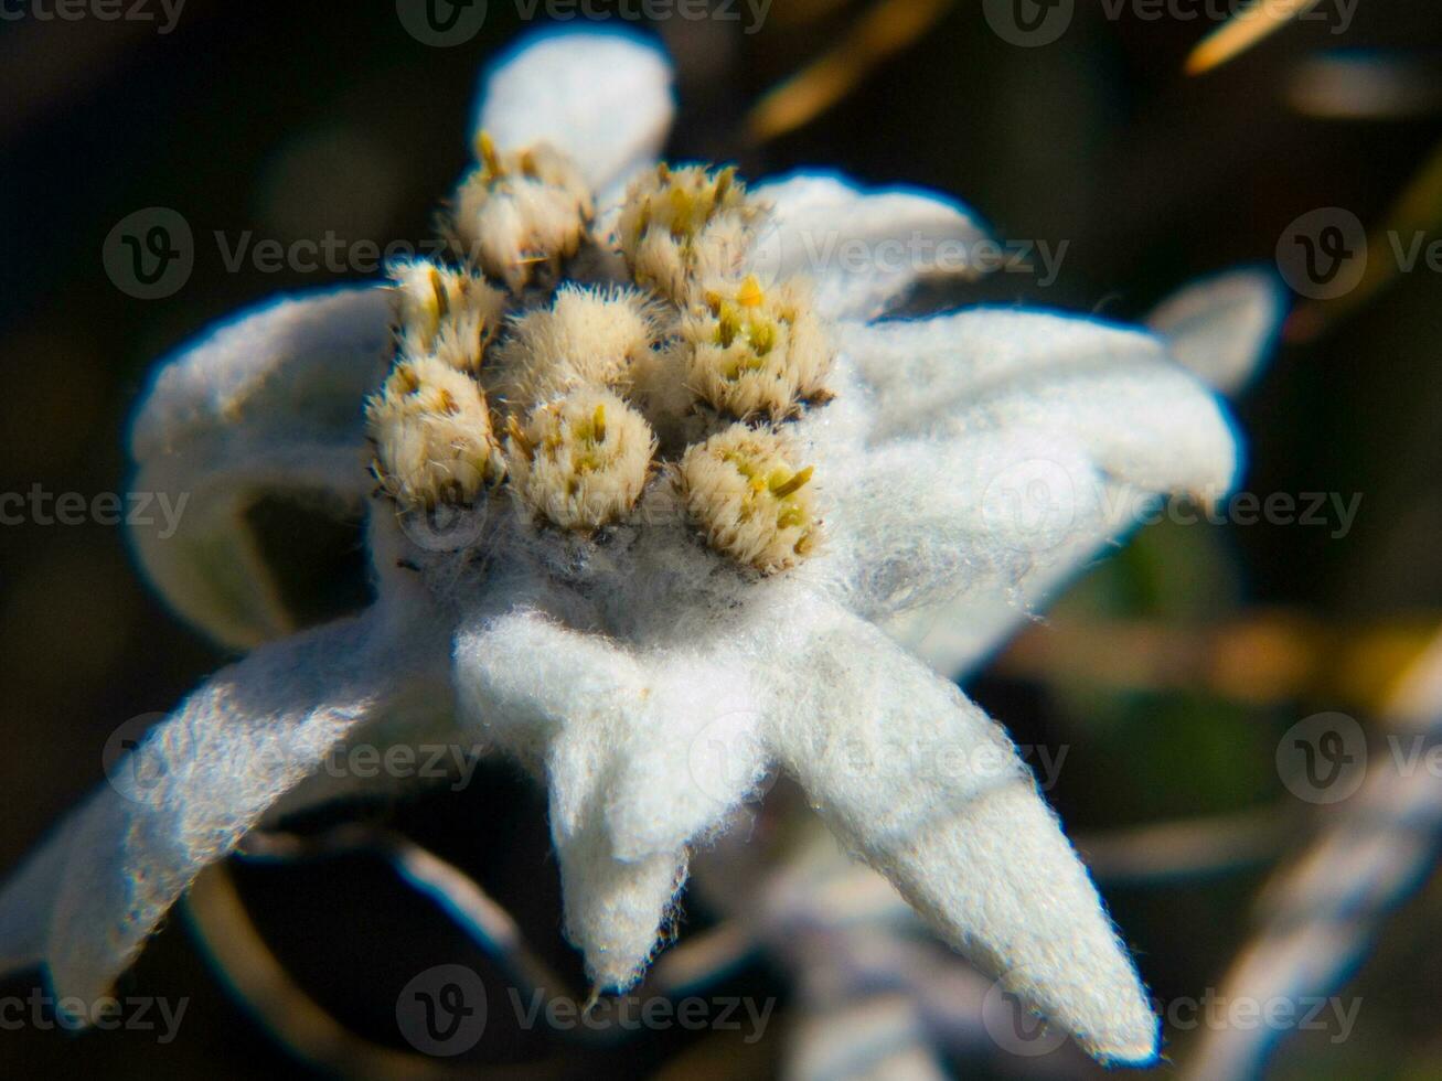
[[[769,739],[844,843],[957,950],[1093,1055],[1158,1026],[1096,889],[1002,731],[870,624],[836,614]]]

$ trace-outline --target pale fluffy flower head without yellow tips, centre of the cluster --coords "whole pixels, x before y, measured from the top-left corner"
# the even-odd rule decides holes
[[[658,334],[640,293],[565,285],[551,307],[513,320],[490,385],[522,412],[581,386],[624,389]]]

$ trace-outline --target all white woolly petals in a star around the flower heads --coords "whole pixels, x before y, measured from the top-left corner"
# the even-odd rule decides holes
[[[669,78],[632,37],[542,37],[490,76],[477,128],[502,151],[568,154],[604,226],[659,151]],[[942,268],[818,252],[916,236],[965,249],[975,221],[835,176],[753,193],[773,209],[747,268],[809,274],[838,347],[832,399],[787,425],[823,479],[825,542],[780,574],[741,574],[694,523],[645,513],[583,540],[580,571],[558,571],[535,530],[492,536],[487,571],[446,588],[408,571],[414,538],[366,473],[360,405],[392,349],[381,288],[277,301],[159,369],[133,428],[136,487],[190,503],[176,536],[137,532],[138,556],[180,614],[254,651],[0,895],[0,969],[43,963],[59,995],[92,1000],[249,829],[358,787],[317,774],[333,747],[480,731],[548,786],[567,930],[598,987],[639,979],[688,852],[784,770],[939,934],[1092,1054],[1155,1056],[1156,1020],[1086,871],[950,677],[1151,500],[1227,490],[1231,424],[1168,349],[1240,373],[1275,321],[1268,285],[1188,294],[1159,324],[1169,337],[1009,308],[878,320]],[[1239,310],[1253,316],[1240,329]],[[369,611],[288,633],[245,519],[277,491],[381,507]]]

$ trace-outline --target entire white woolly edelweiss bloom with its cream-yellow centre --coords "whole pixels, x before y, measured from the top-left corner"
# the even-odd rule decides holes
[[[671,112],[645,45],[531,43],[489,79],[451,203],[466,265],[277,301],[160,368],[136,484],[190,503],[137,551],[185,617],[254,651],[9,885],[0,969],[43,963],[94,1000],[205,865],[337,794],[317,774],[337,744],[479,731],[548,786],[598,989],[639,979],[688,853],[779,768],[1092,1054],[1155,1056],[1086,871],[950,677],[1148,500],[1223,493],[1224,409],[1138,330],[878,320],[936,268],[809,254],[965,248],[973,221],[832,176],[668,170]],[[1168,330],[1236,372],[1275,313],[1256,280],[1217,295]],[[1239,304],[1263,316],[1234,329]],[[365,614],[290,633],[245,519],[274,491],[369,506]]]

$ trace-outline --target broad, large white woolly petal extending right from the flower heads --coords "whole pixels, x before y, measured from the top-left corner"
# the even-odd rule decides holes
[[[968,310],[842,324],[874,448],[832,483],[852,604],[963,675],[1154,500],[1218,499],[1239,473],[1213,391],[1155,337]]]

